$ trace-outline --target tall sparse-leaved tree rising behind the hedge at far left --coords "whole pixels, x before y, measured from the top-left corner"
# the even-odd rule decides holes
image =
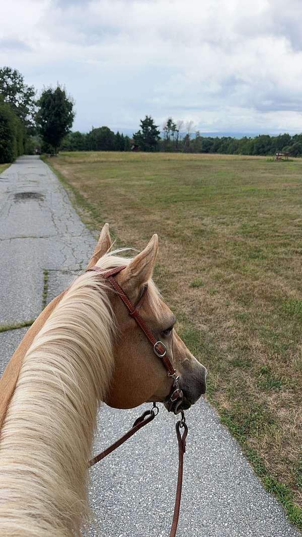
[[[24,83],[23,75],[11,67],[0,68],[0,95],[23,122],[28,132],[34,130],[35,89]]]

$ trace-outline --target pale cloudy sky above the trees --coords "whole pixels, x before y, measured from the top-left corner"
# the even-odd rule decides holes
[[[64,85],[73,130],[146,114],[200,133],[302,131],[302,0],[9,0],[0,66]]]

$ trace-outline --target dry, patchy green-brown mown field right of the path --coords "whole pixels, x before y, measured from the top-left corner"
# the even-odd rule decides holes
[[[83,220],[159,234],[157,284],[208,369],[207,398],[302,528],[302,159],[62,153]]]

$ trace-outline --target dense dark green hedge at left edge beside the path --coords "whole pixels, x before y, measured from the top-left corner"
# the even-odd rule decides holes
[[[24,126],[6,103],[0,102],[0,163],[13,162],[24,151]]]

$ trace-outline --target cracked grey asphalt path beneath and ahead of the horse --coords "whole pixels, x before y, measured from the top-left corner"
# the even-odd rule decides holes
[[[49,301],[84,266],[95,244],[56,177],[37,157],[21,157],[0,175],[0,239],[0,324],[37,316],[43,271],[49,271]],[[0,333],[0,373],[25,332]],[[104,407],[96,451],[140,412]],[[197,403],[187,412],[187,422],[178,536],[298,537],[211,407]],[[174,416],[161,409],[152,424],[91,470],[96,526],[91,536],[168,536],[177,474],[174,423]]]

